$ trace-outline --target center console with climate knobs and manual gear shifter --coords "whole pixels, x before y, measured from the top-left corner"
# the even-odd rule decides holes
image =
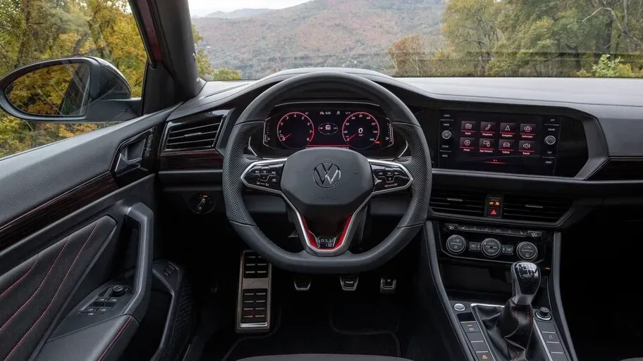
[[[493,203],[493,204],[491,204]],[[487,199],[487,212],[502,212]],[[538,227],[428,222],[438,302],[469,361],[577,361],[562,308],[561,234]],[[436,307],[432,304],[431,307]]]

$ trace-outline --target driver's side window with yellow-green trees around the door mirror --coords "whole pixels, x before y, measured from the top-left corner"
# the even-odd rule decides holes
[[[127,1],[0,0],[0,77],[30,63],[66,56],[108,61],[123,73],[132,96],[141,96],[147,54]],[[27,113],[77,114],[83,106],[83,71],[79,65],[38,70],[12,84],[8,100]],[[81,81],[71,82],[71,74]],[[109,119],[32,122],[0,110],[0,158],[113,124]]]

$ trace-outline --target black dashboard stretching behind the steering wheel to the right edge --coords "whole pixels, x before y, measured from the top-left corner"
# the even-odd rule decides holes
[[[205,84],[200,96],[186,101],[169,117],[159,154],[161,182],[166,186],[220,184],[228,139],[247,105],[274,84],[314,71],[319,69],[284,70],[257,81]],[[441,201],[441,194],[446,194],[443,197],[443,201],[448,202],[445,207],[467,208],[467,202],[471,201],[479,208],[458,214],[446,208],[435,208],[429,214],[431,218],[480,220],[485,209],[479,203],[484,205],[486,195],[506,194],[513,197],[506,200],[510,208],[514,203],[527,204],[527,210],[538,213],[539,208],[532,208],[532,205],[540,201],[550,204],[562,200],[573,201],[572,209],[575,211],[556,222],[553,217],[545,220],[518,215],[513,219],[511,215],[503,216],[497,222],[543,227],[563,227],[565,224],[567,227],[589,209],[578,202],[589,205],[618,203],[621,201],[619,197],[630,197],[643,191],[643,172],[639,171],[643,169],[643,137],[640,137],[643,134],[643,122],[640,121],[643,98],[637,95],[637,82],[588,78],[399,79],[369,70],[336,71],[350,72],[378,82],[412,110],[431,150],[432,196],[436,202]],[[611,89],[612,92],[606,94],[600,89]],[[288,117],[288,120],[297,120],[292,125],[298,133],[290,135],[283,144],[279,134],[282,138],[288,136],[290,125],[287,127],[286,122],[282,122],[279,129],[277,125],[290,112],[303,113],[307,118],[302,115]],[[368,114],[362,114],[362,118],[371,118],[365,120],[375,120],[379,131],[373,133],[371,122],[362,129],[362,134],[368,134],[370,129],[369,137],[355,136],[347,143],[347,137],[352,136],[350,132],[355,129],[344,128],[344,123],[350,115],[359,115],[360,112]],[[386,129],[387,123],[391,122],[386,112],[353,91],[324,87],[304,89],[283,99],[271,110],[266,121],[266,127],[256,134],[249,134],[247,155],[254,153],[261,158],[284,158],[300,147],[325,145],[348,147],[369,158],[382,160],[412,156],[403,134],[390,127]],[[212,123],[213,132],[218,133],[216,138],[209,134],[211,132],[200,131],[195,132],[199,135],[194,137],[207,141],[197,142],[194,146],[190,143],[189,149],[181,146],[175,150],[176,146],[170,144],[176,137],[173,134],[187,132],[184,127],[203,129],[199,127],[209,123]],[[510,134],[501,134],[503,123],[509,123],[509,131],[504,132],[505,124],[503,132]],[[326,131],[326,126],[330,127],[329,131]],[[347,133],[343,133],[344,130]],[[445,134],[447,130],[450,134]],[[322,134],[324,131],[334,133]],[[386,139],[382,142],[386,131],[391,132],[392,144],[388,144]],[[344,134],[348,134],[347,137]],[[289,142],[295,135],[298,142]],[[553,140],[550,136],[556,138],[554,144],[548,144]],[[357,139],[360,141],[355,142]],[[380,144],[375,144],[372,139],[379,140]],[[460,143],[463,148],[460,148]],[[529,148],[525,147],[526,144]],[[249,197],[256,198],[257,202],[252,204],[257,212],[272,212],[283,207],[278,202],[270,203],[266,197]],[[558,203],[548,204],[542,205],[543,212],[549,206],[558,206]],[[390,215],[401,213],[406,207],[403,199],[374,198],[371,209],[374,214]],[[437,207],[437,203],[432,207]],[[565,205],[561,210],[568,210],[568,207]]]

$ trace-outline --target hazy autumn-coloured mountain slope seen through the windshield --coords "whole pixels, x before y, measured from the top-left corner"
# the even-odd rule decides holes
[[[412,34],[441,41],[443,0],[313,0],[245,18],[195,18],[213,68],[258,79],[278,70],[338,66],[387,71],[388,48]]]

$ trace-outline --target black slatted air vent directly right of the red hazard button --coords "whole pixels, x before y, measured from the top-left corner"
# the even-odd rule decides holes
[[[503,218],[532,222],[558,222],[572,206],[572,201],[560,198],[505,195]]]

